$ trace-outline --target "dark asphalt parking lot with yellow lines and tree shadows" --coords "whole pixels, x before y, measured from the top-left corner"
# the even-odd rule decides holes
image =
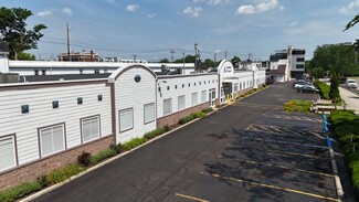
[[[34,201],[338,201],[323,120],[291,84],[213,113]]]

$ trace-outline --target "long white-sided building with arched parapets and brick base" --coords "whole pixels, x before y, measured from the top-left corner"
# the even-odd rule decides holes
[[[0,84],[1,189],[72,163],[84,151],[96,153],[158,127],[175,125],[191,113],[225,104],[226,97],[265,83],[265,71],[235,72],[229,60],[213,73],[161,76],[155,74],[150,63],[96,66],[99,64],[6,60],[0,64],[10,67],[2,65],[0,72],[18,71],[20,76],[33,75],[35,67],[49,71],[45,75],[68,68],[78,75],[80,68],[83,73],[106,68],[110,75]],[[187,71],[186,65],[182,70]]]

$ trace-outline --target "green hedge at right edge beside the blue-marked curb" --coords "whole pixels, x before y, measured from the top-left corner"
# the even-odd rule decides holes
[[[351,110],[334,110],[330,121],[349,162],[353,187],[359,193],[359,117]]]

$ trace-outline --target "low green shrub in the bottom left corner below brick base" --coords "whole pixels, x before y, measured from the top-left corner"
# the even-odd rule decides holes
[[[25,182],[20,185],[1,191],[0,201],[11,202],[38,190],[41,190],[41,184],[39,182]]]

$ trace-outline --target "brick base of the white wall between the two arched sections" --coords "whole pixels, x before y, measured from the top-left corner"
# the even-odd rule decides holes
[[[210,103],[203,103],[201,105],[188,108],[186,110],[181,110],[181,111],[171,114],[169,116],[158,118],[157,119],[157,128],[163,127],[166,125],[168,125],[168,126],[177,125],[181,118],[183,118],[192,113],[201,111],[202,109],[208,108],[208,107],[210,107]]]

